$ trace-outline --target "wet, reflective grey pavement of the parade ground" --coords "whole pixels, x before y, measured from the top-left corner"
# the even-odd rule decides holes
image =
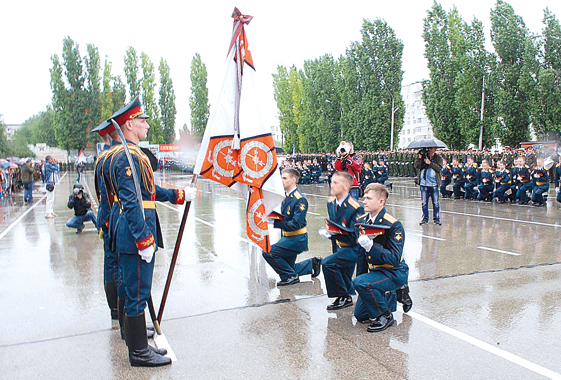
[[[93,190],[92,173],[86,173]],[[378,333],[352,309],[328,313],[323,276],[277,288],[278,277],[245,237],[245,201],[197,183],[162,327],[179,360],[131,368],[112,330],[103,252],[91,225],[65,226],[73,176],[56,189],[56,219],[44,192],[24,206],[0,204],[0,367],[6,378],[450,379],[560,376],[561,210],[442,199],[442,226],[419,226],[418,189],[394,179],[388,212],[405,226],[414,307]],[[157,173],[184,187],[190,176]],[[310,250],[327,256],[326,185],[305,185]],[[159,300],[183,207],[158,204],[166,249],[156,255]],[[279,238],[271,230],[272,240]]]

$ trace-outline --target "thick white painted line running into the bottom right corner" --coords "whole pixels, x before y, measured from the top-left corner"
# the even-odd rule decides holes
[[[451,327],[445,326],[441,323],[438,323],[436,321],[433,321],[430,318],[427,318],[423,315],[417,314],[413,311],[410,311],[407,313],[409,316],[411,316],[411,318],[417,319],[420,322],[426,323],[427,325],[434,327],[437,330],[440,330],[446,334],[452,335],[455,338],[458,338],[460,340],[463,340],[466,343],[469,343],[475,347],[481,348],[482,350],[485,350],[491,354],[497,355],[503,359],[508,360],[511,363],[517,364],[521,367],[524,367],[526,369],[529,369],[532,372],[538,373],[542,376],[546,376],[549,377],[550,379],[561,379],[561,375],[558,374],[557,372],[553,372],[550,369],[544,368],[538,364],[532,363],[526,359],[521,358],[520,356],[514,355],[508,351],[505,350],[501,350],[500,348],[497,348],[493,345],[490,345],[489,343],[485,343],[477,338],[474,338],[470,335],[467,335],[461,331],[455,330]]]

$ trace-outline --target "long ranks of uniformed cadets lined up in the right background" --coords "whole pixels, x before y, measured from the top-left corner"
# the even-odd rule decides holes
[[[364,160],[360,174],[362,191],[370,183],[386,184],[391,188],[391,183],[386,183],[390,175],[416,176],[413,167],[416,150],[361,151],[357,154]],[[555,183],[556,199],[561,202],[561,167],[556,155],[552,156],[553,166],[546,169],[545,154],[536,154],[532,146],[518,151],[506,147],[502,154],[491,154],[487,149],[438,151],[438,154],[444,159],[440,186],[443,198],[520,204],[532,202],[535,206],[544,206],[550,183]],[[298,170],[298,184],[330,184],[336,171],[333,165],[336,159],[334,153],[294,154],[282,162],[281,170],[286,167]]]

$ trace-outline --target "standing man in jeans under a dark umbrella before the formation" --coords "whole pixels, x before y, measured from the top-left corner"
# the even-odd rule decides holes
[[[423,225],[429,222],[429,198],[431,198],[434,224],[442,225],[440,222],[440,200],[438,198],[442,157],[436,154],[436,148],[434,147],[421,149],[413,166],[415,169],[419,169],[417,184],[421,187],[423,205],[423,219],[419,224]]]

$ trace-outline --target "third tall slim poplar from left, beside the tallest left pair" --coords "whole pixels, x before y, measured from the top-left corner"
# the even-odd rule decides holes
[[[87,78],[87,108],[88,115],[88,140],[95,143],[99,140],[97,133],[89,135],[89,132],[101,123],[102,119],[102,101],[99,71],[101,69],[99,60],[99,51],[92,44],[87,45],[88,55],[84,57]]]

